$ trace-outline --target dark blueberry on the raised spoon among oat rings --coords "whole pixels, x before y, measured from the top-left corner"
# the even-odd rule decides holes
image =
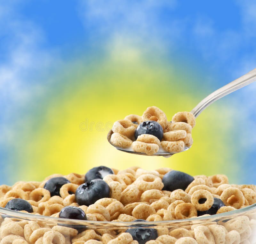
[[[148,120],[140,123],[140,125],[135,130],[135,140],[137,140],[138,136],[142,134],[154,135],[161,141],[164,136],[164,131],[158,122],[154,120]]]

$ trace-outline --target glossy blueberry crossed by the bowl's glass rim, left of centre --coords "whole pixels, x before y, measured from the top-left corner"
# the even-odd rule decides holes
[[[69,219],[78,219],[78,220],[87,220],[86,215],[84,211],[80,208],[77,207],[72,207],[72,206],[66,206],[64,207],[59,214],[60,218],[69,218]],[[69,228],[74,228],[78,230],[79,232],[82,232],[85,230],[84,225],[68,225],[68,224],[58,224],[61,226],[66,226]]]

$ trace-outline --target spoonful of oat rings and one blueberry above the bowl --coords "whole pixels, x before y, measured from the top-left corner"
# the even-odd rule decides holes
[[[195,116],[190,112],[178,112],[169,122],[159,108],[148,107],[142,116],[128,115],[114,123],[110,142],[119,148],[153,155],[159,148],[177,153],[191,147]]]

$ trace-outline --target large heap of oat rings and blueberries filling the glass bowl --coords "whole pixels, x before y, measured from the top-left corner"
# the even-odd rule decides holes
[[[192,177],[160,168],[131,167],[118,171],[94,167],[85,175],[54,174],[43,182],[0,186],[0,206],[66,219],[94,221],[166,221],[210,216],[256,202],[256,186],[230,185],[225,175]],[[0,217],[0,240],[13,244],[169,244],[255,243],[255,216],[238,216],[170,228],[118,229]],[[146,222],[145,222],[146,224]],[[152,226],[152,225],[151,225]]]

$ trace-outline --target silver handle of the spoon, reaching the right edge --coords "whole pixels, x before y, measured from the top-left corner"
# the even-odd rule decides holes
[[[200,103],[196,105],[194,109],[192,109],[191,113],[197,117],[206,107],[221,97],[226,96],[229,93],[234,92],[242,87],[245,87],[254,81],[256,81],[256,69],[248,72],[236,80],[231,81],[227,85],[219,88],[218,90],[205,97]]]

